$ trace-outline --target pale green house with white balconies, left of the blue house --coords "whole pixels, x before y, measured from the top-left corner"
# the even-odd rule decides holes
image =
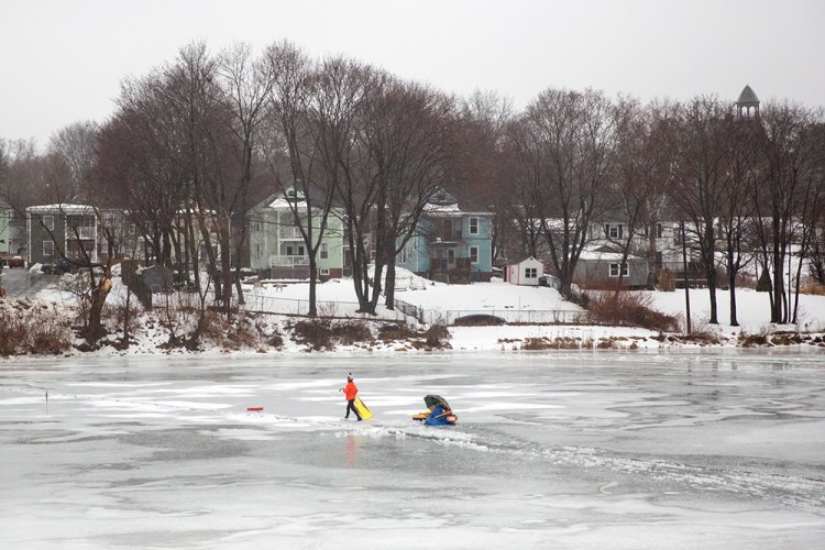
[[[300,223],[307,228],[307,209],[304,195],[290,187],[256,205],[248,213],[250,224],[250,267],[271,278],[309,278],[309,254],[296,223],[294,208]],[[316,216],[316,212],[318,216]],[[318,243],[320,232],[320,208],[314,208],[312,235]],[[343,222],[342,211],[333,209],[327,219],[327,228],[316,257],[321,280],[341,277],[343,274]]]

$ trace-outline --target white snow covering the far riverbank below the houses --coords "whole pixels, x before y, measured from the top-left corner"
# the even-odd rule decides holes
[[[404,290],[396,293],[396,297],[406,304],[419,308],[430,318],[455,318],[464,314],[487,312],[495,316],[529,315],[540,318],[541,314],[552,311],[573,312],[581,311],[574,304],[565,301],[561,295],[548,287],[522,287],[509,285],[501,280],[491,283],[476,283],[473,285],[447,285],[433,283],[426,279],[410,277],[403,282]],[[292,283],[287,285],[245,285],[246,300],[250,309],[261,309],[266,304],[267,310],[273,308],[306,307],[308,296],[308,284]],[[650,298],[653,309],[667,315],[672,315],[681,320],[684,326],[685,296],[683,292],[646,293]],[[318,285],[317,296],[319,311],[333,310],[340,317],[346,317],[348,308],[356,309],[354,289],[350,279],[333,279]],[[594,349],[666,349],[666,348],[705,348],[705,346],[758,346],[758,345],[782,345],[825,350],[823,332],[825,332],[825,296],[800,297],[800,322],[796,324],[771,324],[768,308],[768,296],[751,289],[741,289],[737,293],[739,327],[730,327],[725,323],[728,317],[729,295],[725,292],[717,293],[717,304],[721,324],[710,326],[710,299],[706,289],[690,292],[692,326],[694,336],[692,338],[679,333],[660,333],[641,328],[605,327],[605,326],[575,326],[552,323],[507,323],[493,327],[453,327],[449,326],[449,341],[444,340],[439,349],[453,351],[517,351],[517,350],[594,350]],[[33,298],[35,307],[50,307],[56,311],[70,311],[77,298],[75,295],[61,292],[56,284],[38,292]],[[117,308],[125,302],[125,288],[116,279],[116,286],[108,300],[109,305]],[[6,307],[13,304],[7,299]],[[380,318],[397,319],[404,318],[396,309],[389,311],[380,307]],[[112,345],[102,345],[94,351],[78,351],[73,349],[69,354],[92,353],[102,355],[127,355],[127,354],[155,354],[155,353],[190,353],[183,348],[169,348],[165,345],[169,340],[167,319],[164,318],[163,308],[151,312],[142,312],[135,319],[132,330],[132,343],[127,349],[116,349]],[[311,346],[301,341],[294,333],[295,323],[301,318],[255,312],[251,315],[254,324],[261,333],[274,334],[273,341],[252,338],[248,341],[233,342],[231,338],[223,342],[215,343],[205,341],[197,350],[201,354],[244,354],[244,353],[300,353],[308,351]],[[363,319],[363,324],[371,333],[370,338],[354,342],[333,341],[327,351],[337,352],[419,352],[432,350],[432,345],[425,343],[422,337],[426,326],[410,326],[415,334],[408,337],[387,338],[381,333],[381,328],[386,324],[381,320],[364,319],[355,316],[354,319]],[[410,321],[409,318],[407,318]],[[345,321],[332,321],[341,323]],[[263,327],[263,328],[262,328]],[[109,341],[118,338],[119,327],[112,324],[112,334]],[[268,339],[267,339],[268,340]],[[80,346],[80,341],[75,342]],[[319,348],[315,348],[315,351]]]

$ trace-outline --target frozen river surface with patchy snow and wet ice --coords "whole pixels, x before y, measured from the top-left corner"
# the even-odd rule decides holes
[[[8,549],[823,549],[825,354],[7,360],[0,487]]]

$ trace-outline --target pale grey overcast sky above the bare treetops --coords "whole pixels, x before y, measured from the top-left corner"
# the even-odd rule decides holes
[[[43,147],[106,121],[123,77],[193,41],[282,38],[518,108],[550,86],[649,100],[736,99],[746,84],[825,106],[823,0],[0,0],[0,138]]]

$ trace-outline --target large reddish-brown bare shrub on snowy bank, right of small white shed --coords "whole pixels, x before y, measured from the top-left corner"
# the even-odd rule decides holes
[[[676,317],[652,309],[651,301],[649,295],[638,292],[592,293],[587,311],[592,321],[602,324],[642,327],[660,332],[678,330]]]

